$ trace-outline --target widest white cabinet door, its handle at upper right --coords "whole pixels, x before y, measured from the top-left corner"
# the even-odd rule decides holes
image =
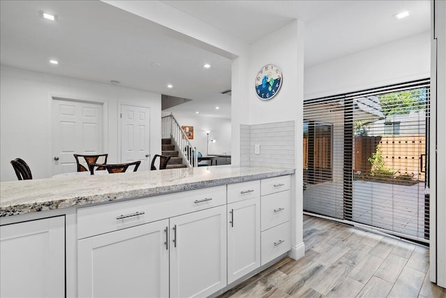
[[[78,241],[79,297],[169,297],[169,221]]]

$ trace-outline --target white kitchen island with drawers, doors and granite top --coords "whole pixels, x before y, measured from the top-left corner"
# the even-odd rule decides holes
[[[3,182],[0,294],[217,295],[291,249],[292,174],[222,165]]]

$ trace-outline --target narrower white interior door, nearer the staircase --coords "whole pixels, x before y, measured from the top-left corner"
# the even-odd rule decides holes
[[[139,170],[150,170],[149,107],[121,105],[121,163],[141,161]]]

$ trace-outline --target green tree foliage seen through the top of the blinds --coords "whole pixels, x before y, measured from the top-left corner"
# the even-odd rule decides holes
[[[409,114],[413,110],[424,110],[426,88],[397,91],[378,96],[385,117]]]

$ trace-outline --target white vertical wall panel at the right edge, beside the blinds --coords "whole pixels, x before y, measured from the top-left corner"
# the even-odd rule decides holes
[[[431,281],[446,288],[446,2],[433,3],[431,119]],[[436,125],[435,125],[436,124]],[[434,172],[436,170],[436,172]],[[433,172],[433,173],[432,173]]]

